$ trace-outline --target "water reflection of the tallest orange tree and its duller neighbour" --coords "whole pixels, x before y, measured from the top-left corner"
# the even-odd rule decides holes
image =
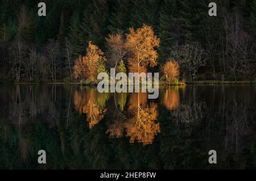
[[[130,137],[130,142],[137,140],[143,145],[152,144],[156,134],[160,132],[157,104],[147,104],[146,93],[133,93],[129,98],[127,116],[123,113],[114,114],[114,123],[109,125],[106,133],[110,137]]]

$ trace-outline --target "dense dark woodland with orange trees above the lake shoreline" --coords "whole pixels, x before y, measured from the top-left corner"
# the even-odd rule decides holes
[[[164,78],[178,67],[180,80],[255,79],[256,0],[216,1],[217,17],[203,0],[44,1],[46,16],[39,2],[0,0],[0,82],[80,81],[113,67]],[[151,61],[133,68],[144,35],[150,46],[141,60]],[[97,61],[81,69],[90,50]]]

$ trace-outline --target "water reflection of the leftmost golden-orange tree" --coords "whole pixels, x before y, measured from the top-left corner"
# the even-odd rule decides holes
[[[86,113],[86,121],[89,128],[98,124],[104,117],[106,110],[104,109],[106,98],[105,94],[96,95],[94,89],[86,89],[86,91],[75,91],[74,104],[75,109],[79,113]]]

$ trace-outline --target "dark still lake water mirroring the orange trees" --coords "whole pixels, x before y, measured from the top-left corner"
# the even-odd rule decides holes
[[[255,86],[160,87],[156,100],[77,85],[0,93],[0,169],[256,167]]]

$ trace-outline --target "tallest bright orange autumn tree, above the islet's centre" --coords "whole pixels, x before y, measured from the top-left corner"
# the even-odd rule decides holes
[[[130,28],[126,39],[130,54],[128,58],[130,72],[147,72],[148,66],[156,66],[158,53],[155,48],[159,47],[160,40],[154,35],[152,27],[143,24],[142,28],[136,31]]]

